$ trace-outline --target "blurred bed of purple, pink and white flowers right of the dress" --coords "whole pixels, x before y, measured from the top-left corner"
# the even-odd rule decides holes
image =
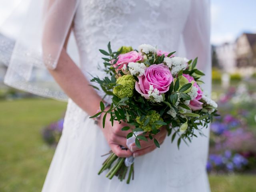
[[[256,102],[253,95],[245,84],[239,84],[220,97],[221,116],[211,124],[208,172],[256,169]]]

